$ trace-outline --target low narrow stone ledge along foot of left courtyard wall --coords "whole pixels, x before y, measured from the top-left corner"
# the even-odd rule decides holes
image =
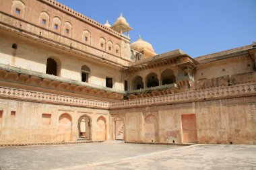
[[[38,145],[53,145],[53,144],[84,144],[84,143],[101,143],[106,140],[89,140],[89,141],[71,141],[71,142],[42,142],[42,143],[24,143],[24,144],[0,144],[0,147],[10,146],[38,146]]]

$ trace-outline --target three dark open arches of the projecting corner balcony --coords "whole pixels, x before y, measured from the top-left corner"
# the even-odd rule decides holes
[[[159,85],[176,83],[176,76],[174,75],[174,71],[172,71],[172,69],[164,70],[160,77],[161,79],[159,80],[156,73],[149,73],[146,76],[146,79],[143,80],[141,76],[137,75],[133,78],[131,86],[133,89],[143,89],[146,87],[156,87]]]

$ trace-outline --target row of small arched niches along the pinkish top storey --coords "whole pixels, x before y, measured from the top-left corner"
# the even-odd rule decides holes
[[[11,14],[24,19],[25,8],[25,3],[22,0],[13,0]],[[71,22],[67,20],[63,22],[59,16],[54,16],[53,19],[51,19],[48,11],[40,11],[38,25],[42,28],[50,29],[53,32],[72,38],[73,25]],[[80,41],[82,43],[92,45],[92,34],[90,30],[83,30],[81,35],[82,38]],[[120,56],[120,45],[118,43],[114,44],[112,40],[106,40],[106,38],[100,37],[96,44],[98,44],[96,47],[100,50]]]

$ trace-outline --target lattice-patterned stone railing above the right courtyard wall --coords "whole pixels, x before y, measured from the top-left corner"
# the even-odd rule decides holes
[[[222,99],[255,94],[256,83],[248,83],[243,85],[207,88],[199,91],[188,91],[186,93],[117,101],[110,103],[110,109],[136,108],[139,106],[171,103],[187,103],[191,101],[204,101],[209,99]]]

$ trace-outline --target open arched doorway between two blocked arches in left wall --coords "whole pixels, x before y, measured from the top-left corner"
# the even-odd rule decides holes
[[[83,115],[78,119],[78,136],[79,138],[85,138],[91,140],[91,119],[87,115]]]

